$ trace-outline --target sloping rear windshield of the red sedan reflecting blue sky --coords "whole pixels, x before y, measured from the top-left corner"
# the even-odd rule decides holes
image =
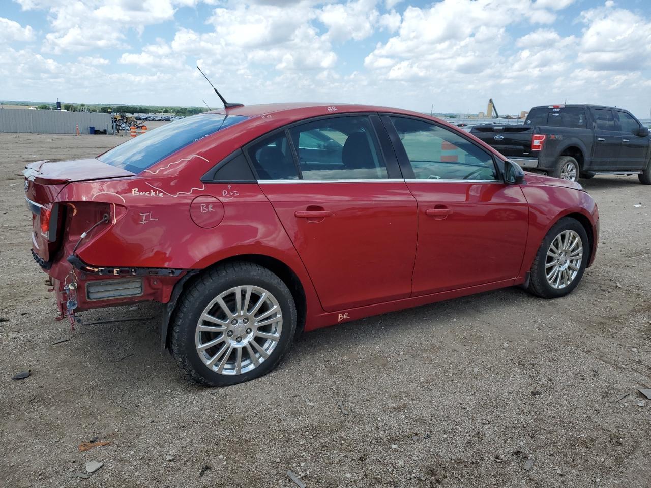
[[[207,135],[246,120],[241,115],[201,114],[170,122],[108,150],[97,159],[139,173]]]

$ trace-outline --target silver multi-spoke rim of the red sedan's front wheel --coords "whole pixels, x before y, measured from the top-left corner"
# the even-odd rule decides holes
[[[545,260],[545,275],[551,288],[562,290],[579,274],[583,260],[583,242],[574,230],[564,230],[555,237]]]

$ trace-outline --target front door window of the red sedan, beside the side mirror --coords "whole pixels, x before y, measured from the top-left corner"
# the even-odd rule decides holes
[[[422,120],[391,120],[417,180],[497,180],[493,157],[464,137]]]

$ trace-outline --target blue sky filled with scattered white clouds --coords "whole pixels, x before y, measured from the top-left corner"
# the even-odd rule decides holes
[[[648,118],[651,0],[0,0],[0,100]]]

